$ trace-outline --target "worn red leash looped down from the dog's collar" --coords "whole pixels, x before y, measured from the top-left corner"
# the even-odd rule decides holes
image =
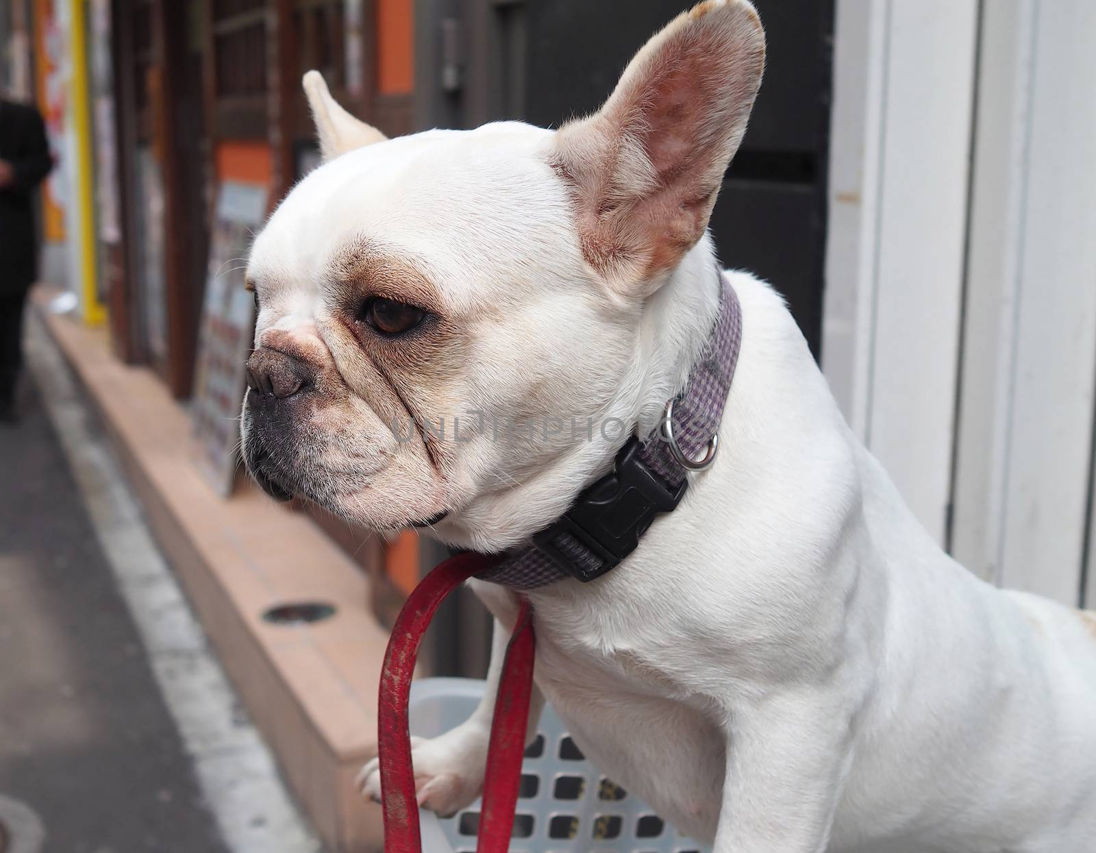
[[[380,671],[377,712],[385,853],[422,853],[408,702],[423,634],[446,595],[494,562],[495,558],[480,554],[450,557],[423,578],[396,618]],[[506,648],[491,721],[477,853],[505,853],[510,846],[533,687],[534,645],[532,612],[528,602],[523,602]]]

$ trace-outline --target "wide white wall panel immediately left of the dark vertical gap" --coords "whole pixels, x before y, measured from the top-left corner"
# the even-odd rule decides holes
[[[978,4],[893,2],[868,446],[943,542],[950,499]]]

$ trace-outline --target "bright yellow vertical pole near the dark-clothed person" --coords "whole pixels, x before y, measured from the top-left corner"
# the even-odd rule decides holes
[[[80,241],[80,288],[83,319],[98,326],[106,319],[106,310],[99,300],[95,286],[95,208],[94,181],[91,155],[91,95],[88,87],[88,0],[70,0],[72,36],[72,120],[76,132],[76,204]]]

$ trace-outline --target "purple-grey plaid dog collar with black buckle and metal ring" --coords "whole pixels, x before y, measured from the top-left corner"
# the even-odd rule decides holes
[[[631,436],[613,471],[587,487],[563,515],[515,548],[480,580],[533,590],[564,578],[591,581],[638,546],[658,515],[688,488],[688,471],[711,464],[742,343],[742,307],[720,270],[719,315],[685,389],[666,402],[659,429]]]

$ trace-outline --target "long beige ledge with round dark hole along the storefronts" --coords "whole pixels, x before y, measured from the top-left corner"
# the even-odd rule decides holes
[[[39,294],[41,306],[46,294]],[[381,846],[380,811],[353,778],[376,752],[387,633],[365,575],[302,513],[250,484],[218,497],[196,463],[190,420],[147,368],[114,359],[106,334],[42,311],[96,406],[148,523],[282,772],[327,848]],[[308,626],[262,614],[294,601],[338,613]]]

